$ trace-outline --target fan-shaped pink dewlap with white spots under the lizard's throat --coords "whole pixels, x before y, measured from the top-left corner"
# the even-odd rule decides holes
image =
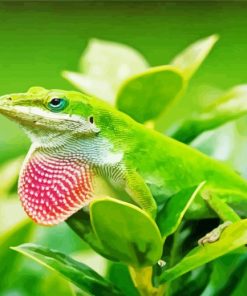
[[[42,225],[66,220],[92,198],[91,173],[79,159],[35,153],[26,163],[19,195],[30,218]]]

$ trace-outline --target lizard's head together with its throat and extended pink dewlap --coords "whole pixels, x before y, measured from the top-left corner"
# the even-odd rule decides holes
[[[94,141],[100,131],[95,104],[101,103],[78,92],[41,87],[0,98],[0,113],[18,122],[34,144],[18,191],[26,213],[38,224],[62,222],[92,199],[91,167],[78,151],[81,140]]]

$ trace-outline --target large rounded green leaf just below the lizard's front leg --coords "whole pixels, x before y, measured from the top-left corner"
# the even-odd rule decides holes
[[[116,259],[143,267],[155,264],[162,254],[157,225],[141,209],[111,198],[90,205],[92,225],[100,241]]]

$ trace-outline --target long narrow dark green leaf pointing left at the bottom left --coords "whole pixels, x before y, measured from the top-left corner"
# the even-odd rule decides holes
[[[24,244],[12,249],[61,274],[90,295],[122,295],[90,267],[56,250],[35,244]]]

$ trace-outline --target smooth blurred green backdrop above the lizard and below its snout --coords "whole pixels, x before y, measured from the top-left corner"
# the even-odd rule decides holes
[[[160,65],[193,41],[218,33],[220,41],[187,94],[199,104],[197,93],[208,85],[226,89],[247,82],[246,14],[245,2],[2,2],[0,94],[33,85],[73,88],[60,73],[77,70],[92,37],[128,44]],[[28,145],[1,117],[0,162]]]

